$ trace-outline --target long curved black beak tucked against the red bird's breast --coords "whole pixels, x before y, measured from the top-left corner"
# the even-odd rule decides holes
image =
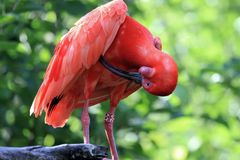
[[[132,80],[137,84],[142,84],[142,76],[140,73],[128,72],[128,71],[124,71],[120,68],[117,68],[115,66],[112,66],[103,58],[103,56],[100,57],[99,62],[113,74],[116,74],[116,75],[123,77],[125,79],[128,79],[128,80]]]

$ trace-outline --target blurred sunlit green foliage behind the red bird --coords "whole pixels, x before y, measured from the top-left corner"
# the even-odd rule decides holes
[[[0,145],[81,143],[80,110],[53,129],[29,117],[54,46],[107,1],[0,0]],[[161,37],[179,66],[168,97],[139,90],[116,113],[124,160],[239,160],[240,1],[126,0],[129,14]],[[91,142],[106,145],[108,102],[90,109]]]

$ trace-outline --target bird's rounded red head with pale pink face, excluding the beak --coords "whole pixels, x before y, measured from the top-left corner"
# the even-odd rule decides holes
[[[158,63],[143,66],[138,71],[142,77],[142,86],[150,94],[167,96],[176,88],[178,68],[175,61],[166,53],[159,54]]]

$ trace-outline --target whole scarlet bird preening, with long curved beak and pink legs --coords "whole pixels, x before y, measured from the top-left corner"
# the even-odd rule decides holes
[[[104,125],[112,159],[118,160],[113,137],[119,101],[140,87],[166,96],[177,85],[178,69],[162,51],[159,38],[127,15],[123,0],[102,5],[75,23],[54,50],[30,113],[46,112],[45,122],[63,127],[72,111],[82,108],[84,143],[89,143],[88,107],[110,99]]]

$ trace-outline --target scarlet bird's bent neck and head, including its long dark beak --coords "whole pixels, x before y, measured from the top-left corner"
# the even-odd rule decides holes
[[[150,94],[167,96],[177,86],[178,67],[173,58],[162,51],[162,42],[144,26],[127,16],[108,52],[121,55],[127,70],[100,62],[112,73],[133,80]],[[109,54],[110,55],[110,54]],[[128,70],[134,69],[134,72]]]

